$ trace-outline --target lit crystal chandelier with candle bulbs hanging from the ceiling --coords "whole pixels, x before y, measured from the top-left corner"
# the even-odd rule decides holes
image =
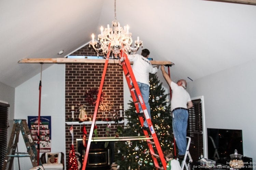
[[[115,0],[115,20],[112,21],[112,27],[109,24],[107,28],[100,28],[100,34],[98,35],[98,41],[95,40],[95,35],[91,35],[92,40],[89,43],[89,47],[93,46],[97,55],[99,56],[99,51],[102,50],[103,55],[112,52],[112,55],[117,58],[122,50],[126,54],[136,51],[143,46],[142,41],[139,37],[134,41],[134,47],[132,46],[132,34],[129,32],[129,26],[120,27],[120,23],[116,20],[116,0]],[[100,47],[98,47],[98,43]],[[119,56],[120,57],[120,56]]]

